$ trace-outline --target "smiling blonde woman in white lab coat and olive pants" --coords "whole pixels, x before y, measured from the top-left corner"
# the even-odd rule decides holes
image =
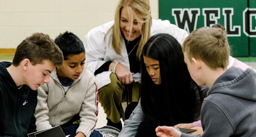
[[[180,44],[188,35],[167,20],[153,20],[149,0],[120,0],[115,20],[90,30],[85,36],[86,62],[96,75],[107,125],[121,130],[120,118],[124,118],[121,103],[138,101],[140,84],[135,81],[140,79],[139,57],[150,36],[158,33],[170,34]]]

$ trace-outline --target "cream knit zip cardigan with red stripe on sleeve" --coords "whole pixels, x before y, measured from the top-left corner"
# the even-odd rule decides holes
[[[36,130],[40,131],[57,125],[62,125],[80,115],[80,125],[76,131],[89,137],[97,123],[98,91],[94,75],[84,70],[77,80],[74,80],[69,89],[64,92],[56,68],[50,74],[50,82],[38,87],[36,106]]]

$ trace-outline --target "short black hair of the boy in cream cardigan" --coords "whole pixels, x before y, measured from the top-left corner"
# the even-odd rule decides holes
[[[83,42],[72,32],[66,31],[59,34],[54,42],[62,51],[64,60],[67,60],[69,56],[85,52]]]

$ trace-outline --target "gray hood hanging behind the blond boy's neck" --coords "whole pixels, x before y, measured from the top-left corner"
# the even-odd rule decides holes
[[[223,73],[207,92],[210,94],[228,94],[243,99],[256,101],[256,73],[247,68],[245,71],[240,68],[231,67]]]

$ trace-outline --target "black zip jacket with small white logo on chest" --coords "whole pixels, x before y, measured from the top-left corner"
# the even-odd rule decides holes
[[[6,69],[10,65],[0,62],[0,136],[24,137],[36,131],[37,90],[18,89]]]

